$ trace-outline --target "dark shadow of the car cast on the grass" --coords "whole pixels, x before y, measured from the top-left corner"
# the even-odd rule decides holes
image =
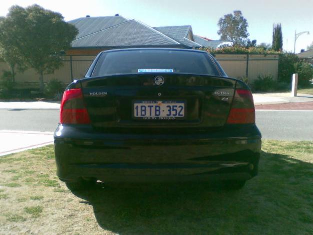
[[[312,178],[312,164],[262,152],[259,175],[238,191],[204,183],[97,183],[73,193],[115,233],[299,234],[313,230]]]

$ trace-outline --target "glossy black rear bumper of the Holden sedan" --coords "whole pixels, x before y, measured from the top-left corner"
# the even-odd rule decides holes
[[[54,138],[63,181],[248,180],[257,175],[261,151],[255,125],[187,135],[105,134],[60,125]]]

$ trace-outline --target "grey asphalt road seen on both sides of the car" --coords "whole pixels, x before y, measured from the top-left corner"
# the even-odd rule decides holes
[[[0,110],[0,130],[54,132],[59,110]],[[313,140],[313,111],[256,111],[264,139]]]

